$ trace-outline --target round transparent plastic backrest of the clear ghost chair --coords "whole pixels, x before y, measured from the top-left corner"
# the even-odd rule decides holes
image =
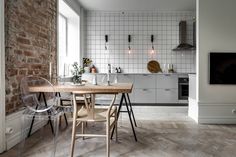
[[[50,92],[31,92],[29,87],[46,86]],[[56,105],[57,99],[53,85],[39,76],[26,76],[20,84],[21,99],[24,105],[33,112],[45,112]]]

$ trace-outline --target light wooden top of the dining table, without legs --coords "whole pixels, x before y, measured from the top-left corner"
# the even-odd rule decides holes
[[[31,86],[30,92],[73,92],[73,93],[95,93],[95,94],[112,94],[112,93],[131,93],[133,89],[132,83],[114,83],[110,86],[105,84],[93,85],[86,83],[85,85],[73,84],[57,84],[54,85],[54,91],[49,86]]]

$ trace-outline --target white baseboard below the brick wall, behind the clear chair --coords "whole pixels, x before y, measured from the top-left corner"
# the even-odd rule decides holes
[[[12,129],[12,132],[10,134],[6,134],[7,150],[11,149],[13,146],[15,146],[21,141],[22,113],[23,111],[18,111],[6,116],[6,128]],[[28,126],[24,130],[25,134],[28,133],[29,131],[30,122],[31,120],[29,119],[27,123],[25,123],[26,126]],[[35,120],[32,133],[37,131],[39,128],[43,127],[46,123],[47,123],[46,121]]]

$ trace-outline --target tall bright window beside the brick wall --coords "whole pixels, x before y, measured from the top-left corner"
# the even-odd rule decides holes
[[[64,1],[59,1],[58,19],[58,75],[71,76],[71,65],[80,65],[80,18]]]

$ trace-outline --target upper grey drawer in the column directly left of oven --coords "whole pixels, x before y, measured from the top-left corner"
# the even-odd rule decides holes
[[[156,76],[156,88],[178,88],[178,75],[163,74]]]

